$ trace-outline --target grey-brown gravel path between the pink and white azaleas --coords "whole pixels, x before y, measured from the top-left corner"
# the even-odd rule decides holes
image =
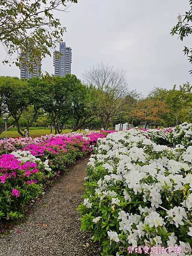
[[[85,159],[61,175],[35,203],[29,219],[0,237],[0,256],[101,255],[90,235],[80,231],[76,211],[82,201],[87,162]]]

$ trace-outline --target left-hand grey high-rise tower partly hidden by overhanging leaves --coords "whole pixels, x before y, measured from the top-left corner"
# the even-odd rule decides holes
[[[21,55],[23,58],[26,59],[26,61],[30,61],[28,52],[22,53]],[[20,61],[20,78],[30,79],[34,76],[41,77],[41,61],[39,61],[38,64],[36,64],[35,61],[32,61],[32,65],[33,65],[33,72],[30,72],[29,66],[23,61]]]

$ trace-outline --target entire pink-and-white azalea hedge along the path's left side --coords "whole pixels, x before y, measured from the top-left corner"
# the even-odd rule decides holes
[[[22,217],[24,207],[42,193],[44,184],[63,172],[66,165],[89,154],[90,145],[107,134],[94,132],[82,137],[73,133],[9,139],[9,149],[18,145],[23,148],[0,156],[0,218]]]

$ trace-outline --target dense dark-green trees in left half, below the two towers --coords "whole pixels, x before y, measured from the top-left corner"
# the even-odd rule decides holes
[[[75,75],[45,76],[17,79],[0,77],[0,117],[9,117],[8,128],[17,125],[18,133],[37,123],[55,127],[55,134],[71,123],[73,131],[89,124],[95,117],[93,88],[89,88]],[[0,120],[1,121],[1,120]],[[2,119],[0,133],[5,129]],[[24,127],[24,128],[22,128]]]

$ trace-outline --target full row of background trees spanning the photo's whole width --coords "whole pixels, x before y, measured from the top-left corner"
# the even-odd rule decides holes
[[[141,97],[135,90],[123,92],[114,87],[98,88],[82,84],[75,75],[65,77],[18,79],[0,77],[0,134],[7,127],[17,126],[18,133],[29,127],[54,126],[55,134],[67,125],[73,131],[95,123],[98,128],[110,122],[134,125],[150,123],[171,126],[192,122],[192,85],[189,82],[172,89],[155,88]]]

